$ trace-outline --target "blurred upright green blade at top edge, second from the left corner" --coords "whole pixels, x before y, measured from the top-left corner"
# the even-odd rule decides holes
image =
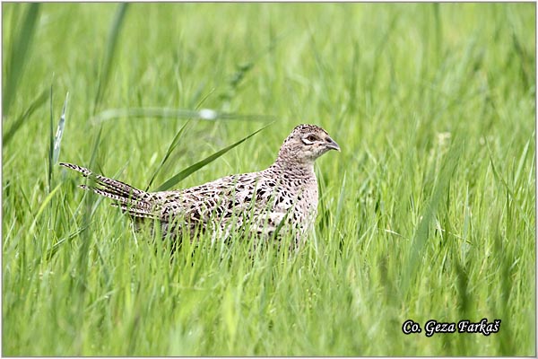
[[[114,60],[114,55],[116,53],[117,47],[117,38],[119,37],[119,32],[121,31],[121,26],[126,15],[127,3],[121,3],[117,5],[117,11],[110,26],[110,31],[108,32],[107,39],[107,48],[105,49],[105,55],[103,57],[103,63],[101,66],[99,87],[97,89],[97,94],[95,95],[95,101],[93,102],[93,110],[99,108],[100,102],[103,99],[105,94],[108,79],[110,77],[110,68],[112,67],[112,61]]]

